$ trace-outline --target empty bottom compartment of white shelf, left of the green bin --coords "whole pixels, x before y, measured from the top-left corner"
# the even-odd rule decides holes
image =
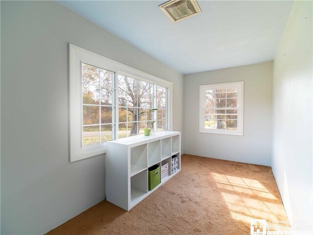
[[[131,177],[131,205],[140,202],[148,192],[148,169]]]

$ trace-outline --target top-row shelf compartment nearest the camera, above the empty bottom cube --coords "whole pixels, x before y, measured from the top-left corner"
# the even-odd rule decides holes
[[[131,176],[147,169],[148,145],[142,144],[131,148]]]

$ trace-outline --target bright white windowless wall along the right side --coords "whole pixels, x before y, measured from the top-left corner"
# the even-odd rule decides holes
[[[272,169],[296,231],[313,222],[312,9],[295,1],[274,60]]]

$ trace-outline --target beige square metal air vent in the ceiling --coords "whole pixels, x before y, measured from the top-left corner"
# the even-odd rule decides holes
[[[198,2],[195,0],[170,0],[159,7],[173,23],[201,13]]]

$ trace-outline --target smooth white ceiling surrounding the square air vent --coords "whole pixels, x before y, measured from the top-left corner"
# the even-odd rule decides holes
[[[198,1],[202,13],[172,23],[165,2],[59,1],[186,74],[273,60],[293,1]]]

